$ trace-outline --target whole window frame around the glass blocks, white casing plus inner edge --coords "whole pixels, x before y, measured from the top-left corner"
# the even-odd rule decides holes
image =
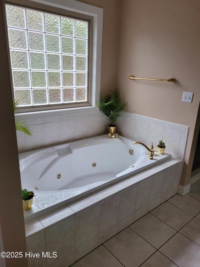
[[[101,80],[101,52],[102,52],[102,31],[103,31],[103,9],[97,8],[85,3],[81,3],[74,0],[16,0],[16,1],[5,1],[5,4],[16,4],[24,7],[35,8],[38,10],[46,11],[46,12],[54,12],[57,13],[57,10],[67,10],[68,14],[72,12],[72,15],[77,14],[78,18],[87,18],[92,17],[92,27],[90,28],[92,31],[93,42],[92,47],[90,47],[88,53],[90,53],[91,64],[89,64],[88,74],[91,76],[88,83],[90,83],[89,94],[91,103],[88,106],[88,103],[75,104],[71,107],[57,106],[55,109],[52,109],[52,106],[49,105],[47,109],[41,107],[38,111],[34,110],[34,107],[27,108],[18,108],[15,114],[15,118],[23,118],[25,120],[32,119],[41,119],[48,117],[57,117],[57,116],[67,116],[67,115],[76,115],[83,113],[93,113],[98,112],[99,109],[97,107],[97,103],[99,101],[100,94],[100,80]],[[44,6],[45,5],[45,6]],[[48,9],[44,9],[43,7],[47,7]],[[56,8],[56,11],[53,11],[53,8]],[[58,11],[58,14],[63,14]],[[5,12],[5,11],[4,11]],[[65,14],[68,16],[68,14]],[[6,16],[5,16],[6,20]],[[8,45],[9,47],[9,45]],[[8,48],[8,53],[9,48]],[[12,69],[11,69],[12,71]],[[38,106],[37,106],[38,108]]]

